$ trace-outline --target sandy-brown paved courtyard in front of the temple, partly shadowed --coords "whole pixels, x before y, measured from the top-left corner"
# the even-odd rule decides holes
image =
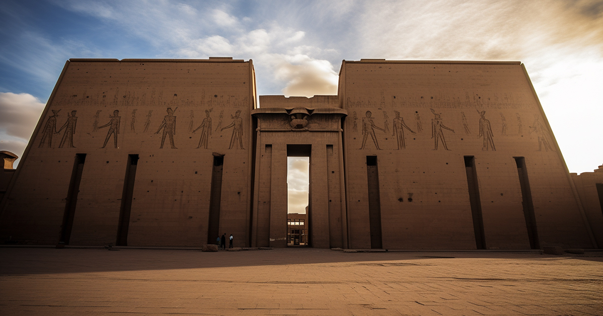
[[[1,315],[603,315],[603,253],[0,248]]]

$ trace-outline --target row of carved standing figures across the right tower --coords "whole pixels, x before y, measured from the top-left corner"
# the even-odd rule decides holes
[[[431,119],[431,138],[434,139],[434,150],[438,150],[438,144],[442,144],[442,146],[444,147],[444,149],[446,150],[450,150],[448,149],[448,146],[446,144],[446,138],[444,137],[444,130],[450,131],[450,132],[455,132],[452,128],[447,127],[446,125],[443,124],[442,122],[442,116],[441,113],[436,113],[435,110],[433,109],[429,109],[431,110],[431,113],[434,114],[434,118]],[[373,140],[374,146],[376,147],[376,149],[381,149],[379,147],[379,142],[377,141],[377,136],[375,134],[375,129],[382,131],[382,132],[390,132],[390,128],[389,128],[389,117],[387,116],[387,111],[383,111],[384,113],[384,128],[380,128],[379,126],[377,126],[374,123],[374,118],[372,117],[372,113],[371,111],[367,111],[365,113],[365,117],[362,117],[362,145],[360,147],[360,149],[366,149],[367,148],[367,139],[370,136],[371,140]],[[393,134],[392,136],[396,137],[396,141],[397,141],[397,145],[398,148],[397,149],[404,149],[406,148],[406,141],[405,141],[405,136],[404,136],[404,129],[408,129],[409,132],[411,132],[412,134],[416,135],[417,132],[421,132],[423,131],[423,126],[421,125],[421,117],[418,114],[418,111],[415,111],[415,121],[417,123],[417,132],[413,131],[411,128],[408,127],[408,125],[406,125],[406,123],[404,122],[404,118],[400,117],[400,112],[398,111],[394,111],[394,113],[396,114],[396,118],[393,119],[392,122],[392,129],[393,129]],[[480,119],[479,119],[479,135],[478,138],[482,138],[484,143],[482,145],[482,150],[496,150],[496,147],[494,146],[494,132],[492,131],[492,126],[490,125],[490,120],[486,119],[485,117],[485,113],[486,111],[481,111],[479,113]],[[518,113],[516,113],[517,115],[517,122],[519,124],[519,134],[522,134],[523,132],[523,127],[522,127],[522,121],[521,121],[521,117],[519,116]],[[463,119],[463,128],[465,130],[465,133],[467,135],[471,134],[471,131],[469,129],[469,123],[467,123],[467,117],[465,116],[464,112],[461,112],[461,116]],[[502,113],[500,113],[500,117],[502,119],[502,135],[507,135],[507,121],[505,120],[505,116],[502,115]],[[356,112],[354,111],[352,113],[352,119],[353,119],[353,127],[352,127],[352,131],[358,132],[358,115],[356,114]],[[554,149],[551,147],[551,144],[549,143],[548,140],[548,131],[546,129],[546,127],[540,122],[538,115],[534,114],[534,123],[532,124],[532,126],[529,126],[529,132],[530,134],[532,132],[535,132],[537,137],[538,137],[538,151],[542,151],[543,147],[546,151],[548,150],[553,150]]]

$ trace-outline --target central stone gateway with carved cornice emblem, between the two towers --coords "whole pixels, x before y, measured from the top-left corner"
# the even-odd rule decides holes
[[[287,246],[287,157],[309,156],[310,246],[347,248],[342,119],[338,96],[260,96],[256,123],[254,247]]]

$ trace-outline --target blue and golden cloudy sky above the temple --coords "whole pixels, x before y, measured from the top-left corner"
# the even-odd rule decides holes
[[[253,59],[258,94],[336,94],[341,60],[512,60],[570,172],[603,163],[603,1],[13,1],[0,150],[21,155],[69,58]]]

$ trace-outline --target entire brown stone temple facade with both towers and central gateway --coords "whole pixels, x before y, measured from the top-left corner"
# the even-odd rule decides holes
[[[19,167],[2,155],[11,243],[603,245],[603,169],[568,172],[519,62],[343,61],[337,95],[258,98],[251,60],[71,59]]]

